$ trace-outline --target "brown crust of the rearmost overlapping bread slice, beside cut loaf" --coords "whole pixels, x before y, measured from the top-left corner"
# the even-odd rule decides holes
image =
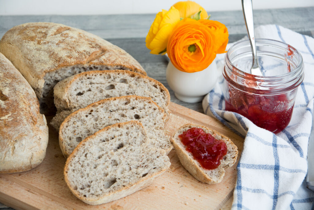
[[[140,77],[142,79],[148,80],[149,82],[152,82],[159,86],[163,92],[165,92],[165,96],[167,100],[165,101],[165,105],[168,106],[170,103],[170,94],[167,88],[160,83],[157,80],[154,80],[151,77],[144,76],[142,74],[138,74],[136,72],[131,72],[131,71],[124,71],[124,70],[107,70],[107,71],[85,71],[76,75],[73,75],[72,77],[68,77],[60,82],[57,83],[57,85],[54,87],[54,100],[55,100],[55,105],[57,109],[73,109],[76,108],[75,105],[69,100],[69,88],[71,87],[72,83],[78,80],[79,78],[82,77],[87,77],[89,75],[93,74],[101,74],[101,75],[111,75],[111,74],[122,74],[126,76],[131,76],[134,75],[134,77]]]

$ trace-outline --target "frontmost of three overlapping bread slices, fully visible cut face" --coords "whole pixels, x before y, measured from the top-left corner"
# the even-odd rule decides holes
[[[64,179],[76,197],[98,205],[147,187],[169,167],[165,151],[152,147],[141,123],[129,121],[84,139],[68,157]]]

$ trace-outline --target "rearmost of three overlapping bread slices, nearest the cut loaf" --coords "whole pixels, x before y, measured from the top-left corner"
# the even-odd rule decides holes
[[[54,87],[54,102],[57,115],[51,125],[59,129],[66,114],[99,101],[101,99],[138,95],[150,97],[169,116],[169,91],[163,84],[141,74],[124,71],[87,71],[68,77]],[[62,112],[71,110],[71,112]]]

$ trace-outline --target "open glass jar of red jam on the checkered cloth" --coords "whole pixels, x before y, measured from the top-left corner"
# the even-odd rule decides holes
[[[286,43],[255,41],[263,76],[250,73],[252,52],[248,40],[234,44],[225,56],[225,110],[279,133],[291,120],[296,91],[304,78],[302,56]]]

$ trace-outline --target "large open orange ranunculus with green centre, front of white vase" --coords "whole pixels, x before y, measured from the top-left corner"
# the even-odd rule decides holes
[[[173,29],[167,44],[167,54],[180,71],[206,69],[216,57],[214,30],[197,20],[185,18]]]

